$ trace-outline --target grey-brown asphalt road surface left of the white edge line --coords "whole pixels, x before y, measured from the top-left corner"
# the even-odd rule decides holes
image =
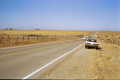
[[[22,79],[80,43],[79,40],[49,42],[0,49],[0,79]]]

